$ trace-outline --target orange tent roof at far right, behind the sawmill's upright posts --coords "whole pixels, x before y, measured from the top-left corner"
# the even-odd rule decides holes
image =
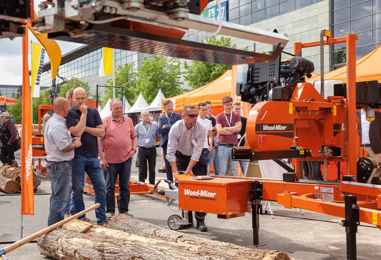
[[[381,70],[377,66],[381,60],[381,46],[356,60],[356,82],[378,80],[381,82]],[[339,80],[346,83],[346,66],[324,74],[325,80]],[[320,75],[307,79],[307,82],[320,80]]]

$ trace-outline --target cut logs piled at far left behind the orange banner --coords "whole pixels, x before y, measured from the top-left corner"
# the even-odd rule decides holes
[[[20,167],[16,165],[0,166],[0,191],[4,193],[15,193],[21,191]],[[34,190],[40,186],[41,181],[33,172]]]

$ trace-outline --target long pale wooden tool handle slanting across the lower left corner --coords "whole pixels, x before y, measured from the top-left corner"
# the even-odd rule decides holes
[[[9,246],[6,246],[6,247],[4,247],[3,249],[0,249],[0,256],[5,255],[6,253],[9,253],[9,252],[11,252],[11,251],[13,251],[13,250],[15,250],[15,249],[21,247],[21,246],[23,246],[23,245],[25,245],[25,244],[27,244],[27,243],[33,241],[34,239],[36,239],[36,238],[38,238],[38,237],[41,237],[42,235],[44,235],[44,234],[46,234],[46,233],[52,231],[53,229],[55,229],[55,228],[57,228],[57,227],[60,227],[60,226],[62,226],[63,224],[65,224],[65,223],[67,223],[67,222],[69,222],[69,221],[71,221],[71,220],[73,220],[73,219],[75,219],[75,218],[77,218],[77,217],[80,217],[80,216],[82,216],[83,214],[85,214],[85,213],[87,213],[87,212],[89,212],[89,211],[92,211],[92,210],[94,210],[95,208],[99,208],[99,207],[100,207],[100,204],[97,203],[97,204],[93,205],[93,206],[90,207],[90,208],[87,208],[87,209],[85,209],[85,210],[82,210],[81,212],[78,212],[78,213],[75,214],[75,215],[72,215],[72,216],[70,216],[70,217],[68,217],[68,218],[66,218],[66,219],[64,219],[64,220],[61,220],[61,221],[59,221],[59,222],[57,222],[57,223],[55,223],[55,224],[53,224],[53,225],[51,225],[51,226],[48,226],[47,228],[44,228],[43,230],[40,230],[40,231],[38,231],[38,232],[36,232],[36,233],[30,235],[30,236],[27,236],[26,238],[23,238],[23,239],[21,239],[21,240],[19,240],[19,241],[17,241],[17,242],[14,242],[13,244],[11,244],[11,245],[9,245]]]

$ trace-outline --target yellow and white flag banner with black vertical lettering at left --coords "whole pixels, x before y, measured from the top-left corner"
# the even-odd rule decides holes
[[[45,49],[32,43],[32,93],[33,98],[40,97],[40,80],[43,74]]]

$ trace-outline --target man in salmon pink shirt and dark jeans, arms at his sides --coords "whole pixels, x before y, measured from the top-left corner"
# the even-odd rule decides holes
[[[115,182],[119,176],[119,214],[129,214],[130,176],[132,157],[138,147],[138,138],[131,118],[123,115],[119,99],[110,103],[112,113],[103,118],[104,137],[98,138],[98,152],[106,175],[106,216],[115,214]]]

